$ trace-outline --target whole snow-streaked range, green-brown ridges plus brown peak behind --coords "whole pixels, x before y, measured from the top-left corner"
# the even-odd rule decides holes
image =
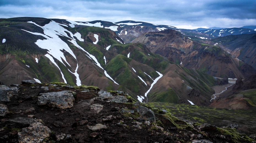
[[[121,90],[143,102],[209,105],[211,86],[220,82],[214,77],[255,74],[252,66],[196,37],[205,33],[169,25],[17,17],[1,19],[0,26],[0,77],[6,85],[60,81]]]

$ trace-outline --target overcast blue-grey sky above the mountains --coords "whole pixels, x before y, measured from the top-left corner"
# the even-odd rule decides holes
[[[11,17],[233,28],[256,25],[256,0],[1,0],[0,18]]]

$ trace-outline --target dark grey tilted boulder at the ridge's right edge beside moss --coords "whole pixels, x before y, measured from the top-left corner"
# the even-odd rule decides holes
[[[137,112],[139,112],[141,118],[148,120],[150,122],[156,122],[155,114],[152,110],[143,106],[139,106],[136,110]]]

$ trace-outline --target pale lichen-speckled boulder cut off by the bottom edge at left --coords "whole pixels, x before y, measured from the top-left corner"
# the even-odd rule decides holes
[[[35,122],[18,132],[18,141],[20,143],[42,142],[44,138],[50,136],[50,133],[51,130],[48,127],[43,126],[40,122]]]

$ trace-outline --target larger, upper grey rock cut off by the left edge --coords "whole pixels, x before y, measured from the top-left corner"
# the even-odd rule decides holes
[[[0,102],[10,102],[10,97],[18,95],[18,87],[0,86]]]

